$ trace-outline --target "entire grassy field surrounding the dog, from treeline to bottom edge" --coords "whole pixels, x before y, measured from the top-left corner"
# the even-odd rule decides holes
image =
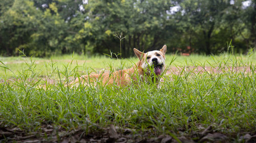
[[[256,53],[166,55],[157,89],[65,81],[136,58],[0,58],[0,142],[245,142],[256,137]],[[200,67],[200,68],[198,68]],[[45,85],[42,87],[41,85]]]

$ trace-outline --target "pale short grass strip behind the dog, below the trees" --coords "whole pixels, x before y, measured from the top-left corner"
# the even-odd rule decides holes
[[[113,55],[114,56],[114,55]],[[218,56],[205,56],[205,55],[198,55],[192,54],[190,56],[175,56],[173,54],[166,55],[166,64],[169,65],[172,62],[173,58],[176,58],[175,61],[172,63],[172,66],[195,66],[195,65],[205,65],[205,66],[219,66],[220,61],[227,61],[228,65],[232,65],[233,62],[242,62],[242,64],[246,65],[255,65],[256,64],[256,54],[252,53],[249,55],[229,55],[229,54],[221,54]],[[27,68],[26,63],[31,63],[30,58],[25,58],[24,56],[20,57],[0,57],[0,61],[2,61],[12,72],[5,72],[5,68],[0,68],[0,79],[1,78],[10,78],[16,77],[18,72]],[[39,76],[46,76],[49,71],[54,70],[58,67],[59,70],[65,71],[67,66],[69,69],[77,68],[80,74],[84,72],[92,72],[97,70],[110,70],[110,68],[121,69],[123,66],[124,68],[130,68],[134,63],[138,60],[135,58],[130,59],[123,59],[122,63],[118,59],[112,59],[110,56],[92,56],[88,58],[88,56],[83,55],[62,55],[62,56],[53,56],[52,58],[33,58],[33,62],[35,62],[36,68],[34,72],[36,72]],[[0,63],[0,66],[4,66]],[[54,72],[57,75],[56,72]]]

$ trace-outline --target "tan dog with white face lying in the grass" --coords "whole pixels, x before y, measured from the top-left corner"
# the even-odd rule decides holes
[[[155,80],[159,82],[162,73],[165,69],[165,52],[166,45],[160,50],[149,51],[143,53],[134,48],[136,56],[140,61],[130,69],[119,70],[115,72],[106,72],[101,74],[83,75],[70,85],[78,85],[79,82],[83,84],[94,84],[99,81],[102,85],[117,84],[121,87],[131,84],[132,81],[150,81]],[[154,73],[152,73],[154,71]]]

